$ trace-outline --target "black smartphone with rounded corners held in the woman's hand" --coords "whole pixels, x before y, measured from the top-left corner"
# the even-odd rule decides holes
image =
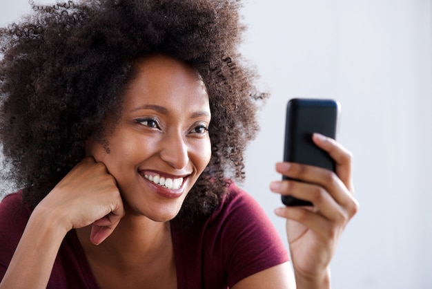
[[[340,103],[335,100],[295,98],[286,106],[284,161],[323,167],[335,171],[335,162],[312,141],[313,133],[335,139]],[[286,176],[282,179],[288,180]],[[288,206],[310,206],[311,202],[282,196]]]

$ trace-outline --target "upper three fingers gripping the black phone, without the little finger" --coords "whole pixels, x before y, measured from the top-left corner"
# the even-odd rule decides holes
[[[335,160],[335,172],[298,163],[279,162],[276,165],[279,174],[294,180],[275,181],[271,183],[271,190],[310,201],[328,219],[349,219],[358,209],[358,203],[353,198],[352,154],[335,140],[320,134],[315,133],[313,141]]]

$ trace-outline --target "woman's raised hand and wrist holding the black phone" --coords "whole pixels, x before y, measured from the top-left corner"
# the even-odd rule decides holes
[[[330,287],[330,261],[348,221],[358,203],[353,198],[352,156],[340,144],[320,134],[313,135],[315,145],[335,160],[336,169],[280,162],[276,170],[284,176],[302,180],[280,180],[271,190],[311,201],[313,207],[282,207],[278,216],[287,218],[286,234],[291,250],[297,288]]]

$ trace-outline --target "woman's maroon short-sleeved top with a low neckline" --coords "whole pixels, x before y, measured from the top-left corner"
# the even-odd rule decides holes
[[[18,192],[0,203],[0,279],[30,217],[21,201]],[[288,261],[286,248],[262,208],[234,185],[208,218],[186,228],[172,221],[171,232],[179,289],[229,288]],[[61,243],[47,288],[98,288],[75,230]]]

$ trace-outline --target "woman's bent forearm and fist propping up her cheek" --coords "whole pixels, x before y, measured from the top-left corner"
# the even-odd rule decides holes
[[[124,207],[114,177],[101,162],[84,159],[32,212],[0,288],[46,288],[69,230],[92,225],[90,241],[99,244],[122,216]]]

